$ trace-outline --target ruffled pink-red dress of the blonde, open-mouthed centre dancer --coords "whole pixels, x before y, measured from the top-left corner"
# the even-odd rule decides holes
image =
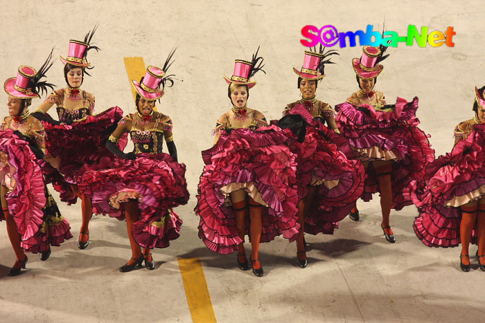
[[[283,235],[294,241],[297,223],[298,192],[294,185],[296,156],[286,145],[296,140],[289,129],[267,127],[253,113],[249,128],[233,129],[227,113],[218,124],[218,142],[202,151],[205,166],[197,190],[195,213],[200,216],[199,237],[207,248],[227,255],[243,243],[236,216],[231,207],[231,192],[245,190],[263,205],[261,242]],[[257,129],[257,130],[256,130]],[[246,216],[245,234],[250,236],[250,217]]]

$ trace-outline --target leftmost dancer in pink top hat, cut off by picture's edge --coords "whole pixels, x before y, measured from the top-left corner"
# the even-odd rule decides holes
[[[24,252],[40,252],[45,261],[50,246],[60,246],[72,237],[69,223],[60,214],[37,165],[44,156],[44,129],[30,116],[32,99],[40,97],[52,84],[40,82],[52,66],[51,55],[39,71],[30,66],[19,67],[17,77],[6,80],[8,113],[0,131],[0,220],[5,219],[12,248],[17,256],[9,276],[19,275],[26,268]]]

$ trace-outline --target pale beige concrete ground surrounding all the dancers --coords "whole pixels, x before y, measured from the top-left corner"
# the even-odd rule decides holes
[[[141,3],[143,2],[143,3]],[[303,48],[300,30],[307,24],[333,24],[341,32],[387,30],[405,35],[408,24],[444,32],[455,27],[455,47],[389,48],[376,89],[389,102],[397,95],[420,98],[421,128],[431,133],[436,154],[452,147],[455,125],[470,118],[474,86],[483,86],[484,19],[476,1],[6,1],[0,12],[0,76],[15,76],[17,67],[39,67],[52,46],[66,55],[69,39],[82,39],[99,21],[94,37],[102,48],[89,53],[94,66],[82,89],[96,95],[96,111],[118,105],[134,111],[123,57],[142,56],[161,66],[178,46],[171,71],[182,77],[159,105],[172,117],[179,160],[187,165],[191,201],[177,212],[182,235],[170,248],[155,250],[157,268],[122,274],[130,257],[123,222],[98,216],[91,222],[91,244],[78,250],[80,204],[60,203],[75,236],[42,262],[29,255],[28,270],[6,273],[15,260],[6,230],[0,231],[0,322],[190,322],[177,257],[200,257],[219,322],[484,322],[485,273],[459,269],[459,248],[425,247],[414,235],[416,208],[391,213],[397,237],[382,236],[378,196],[359,202],[362,221],[344,219],[334,236],[306,240],[308,268],[296,266],[296,247],[285,239],[261,246],[265,276],[258,279],[236,267],[234,255],[220,256],[197,237],[193,212],[199,151],[211,146],[215,120],[227,111],[227,85],[234,59],[250,59],[261,45],[267,75],[258,74],[249,106],[268,119],[281,116],[297,100],[297,77]],[[338,48],[337,48],[338,49]],[[351,59],[361,48],[342,48],[337,64],[326,68],[317,98],[335,105],[356,91]],[[64,86],[57,60],[48,80]],[[7,102],[7,95],[0,93]],[[33,109],[40,104],[33,102]],[[33,111],[33,109],[30,109]],[[53,114],[54,110],[51,111]],[[0,115],[7,115],[6,104]],[[58,195],[54,194],[59,201]],[[5,227],[4,223],[0,224]],[[249,245],[247,246],[249,250]],[[470,248],[470,255],[475,247]]]

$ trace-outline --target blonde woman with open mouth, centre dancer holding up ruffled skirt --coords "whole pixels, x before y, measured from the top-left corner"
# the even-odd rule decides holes
[[[263,113],[247,107],[249,89],[256,85],[250,79],[263,66],[256,50],[251,62],[236,59],[231,78],[224,75],[232,108],[216,124],[215,145],[202,151],[206,166],[195,207],[200,216],[199,237],[222,255],[237,250],[240,270],[249,270],[243,244],[245,234],[249,235],[252,271],[257,277],[264,273],[260,242],[279,234],[294,241],[299,230],[293,188],[296,164],[285,146],[289,132],[267,127]]]

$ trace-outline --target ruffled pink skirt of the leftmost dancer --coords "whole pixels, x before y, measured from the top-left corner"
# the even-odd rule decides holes
[[[51,196],[35,154],[28,142],[11,129],[0,131],[0,184],[7,187],[8,212],[26,252],[42,252],[72,237],[69,223],[60,215],[55,201],[48,201]],[[4,219],[0,210],[0,220]],[[56,225],[51,225],[54,221]]]

